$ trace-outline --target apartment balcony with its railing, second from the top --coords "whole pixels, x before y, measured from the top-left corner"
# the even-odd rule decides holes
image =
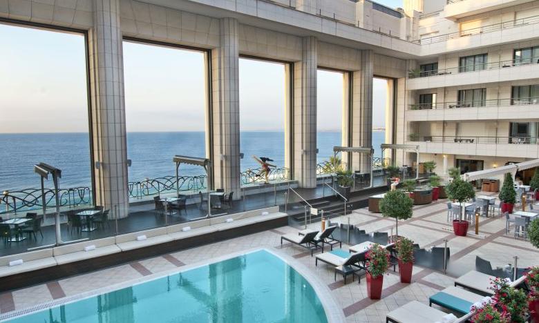
[[[471,2],[472,0],[465,1]],[[422,45],[420,52],[422,56],[441,55],[449,52],[460,52],[462,50],[531,40],[537,37],[538,24],[539,16],[533,16],[426,37],[418,39],[414,43]]]

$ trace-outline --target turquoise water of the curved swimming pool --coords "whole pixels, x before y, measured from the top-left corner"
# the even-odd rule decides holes
[[[272,253],[256,251],[8,322],[328,321],[303,276]]]

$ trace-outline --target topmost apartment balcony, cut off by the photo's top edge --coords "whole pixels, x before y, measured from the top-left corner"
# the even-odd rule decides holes
[[[456,20],[502,8],[516,6],[533,0],[447,0],[444,16]]]

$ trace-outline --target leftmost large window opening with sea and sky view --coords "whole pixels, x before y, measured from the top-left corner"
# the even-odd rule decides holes
[[[28,198],[17,192],[41,187],[33,165],[44,162],[62,170],[62,190],[79,189],[71,206],[91,204],[84,35],[0,24],[0,39],[0,192]]]

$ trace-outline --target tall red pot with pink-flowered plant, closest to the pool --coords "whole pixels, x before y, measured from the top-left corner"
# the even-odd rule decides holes
[[[371,300],[379,300],[384,285],[384,274],[388,271],[389,253],[386,248],[374,244],[365,257],[367,260],[367,295]]]

